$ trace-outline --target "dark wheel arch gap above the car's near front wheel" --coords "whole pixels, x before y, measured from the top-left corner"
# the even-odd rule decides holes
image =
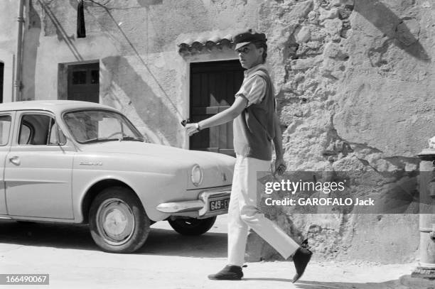
[[[136,195],[138,200],[141,200],[137,195],[137,193],[133,190],[133,188],[127,185],[126,182],[114,178],[99,180],[87,189],[85,193],[85,197],[83,197],[82,199],[81,211],[83,215],[83,223],[85,224],[89,223],[89,211],[90,211],[90,206],[92,204],[92,201],[95,199],[95,197],[97,197],[97,195],[102,190],[106,189],[107,187],[126,187],[127,189],[131,190],[131,192],[133,192],[134,195]],[[142,205],[142,207],[144,206]]]

